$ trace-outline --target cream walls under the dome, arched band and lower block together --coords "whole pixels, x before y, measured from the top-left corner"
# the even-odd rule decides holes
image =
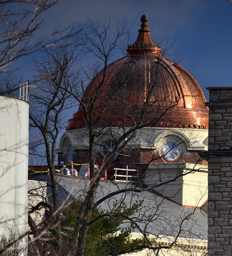
[[[96,141],[99,152],[102,150],[101,145],[103,145],[104,141],[112,138],[111,133],[114,138],[120,138],[127,129],[123,131],[122,128],[118,127],[105,127],[101,130],[103,135],[99,136]],[[201,206],[207,200],[207,166],[197,164],[198,159],[193,159],[193,155],[188,151],[204,151],[208,149],[207,130],[144,127],[136,132],[135,138],[128,143],[127,147],[154,150],[158,154],[161,152],[166,139],[169,138],[179,144],[183,158],[177,162],[163,161],[163,163],[149,164],[144,183],[154,186],[155,184],[169,181],[156,189],[182,205]],[[69,144],[72,144],[74,149],[88,149],[88,129],[66,131],[60,140],[58,152],[65,154]],[[195,162],[195,164],[191,162]],[[188,174],[185,175],[186,173]],[[179,175],[180,178],[176,180],[175,178]],[[174,179],[174,181],[170,182],[171,179]]]

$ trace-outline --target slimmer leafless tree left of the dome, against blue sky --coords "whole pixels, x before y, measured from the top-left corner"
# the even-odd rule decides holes
[[[45,162],[52,179],[52,212],[59,209],[58,180],[55,168],[57,138],[60,130],[64,128],[65,111],[74,104],[72,96],[60,87],[73,87],[76,83],[76,73],[73,71],[73,63],[77,59],[75,47],[67,47],[67,44],[65,40],[64,47],[60,45],[59,48],[45,49],[46,55],[43,56],[42,62],[39,60],[36,62],[36,70],[39,77],[46,78],[39,83],[38,88],[31,95],[33,102],[30,110],[31,129],[36,127],[42,134],[42,139],[34,144],[33,148],[45,145]],[[37,152],[32,154],[42,157]],[[59,226],[57,229],[58,237],[61,239]]]

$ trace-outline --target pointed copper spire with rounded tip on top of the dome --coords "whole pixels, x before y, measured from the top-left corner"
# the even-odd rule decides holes
[[[156,45],[150,35],[150,30],[148,29],[148,16],[143,14],[141,17],[141,28],[138,30],[139,35],[133,45],[129,45],[127,52],[129,54],[142,54],[142,53],[161,53],[161,47]]]

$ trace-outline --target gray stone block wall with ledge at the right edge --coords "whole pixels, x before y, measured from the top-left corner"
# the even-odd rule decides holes
[[[207,89],[208,256],[232,256],[232,86]]]

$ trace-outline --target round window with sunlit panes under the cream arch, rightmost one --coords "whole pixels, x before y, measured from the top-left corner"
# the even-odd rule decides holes
[[[162,156],[168,161],[175,161],[180,157],[180,145],[174,141],[166,141],[161,150]]]

